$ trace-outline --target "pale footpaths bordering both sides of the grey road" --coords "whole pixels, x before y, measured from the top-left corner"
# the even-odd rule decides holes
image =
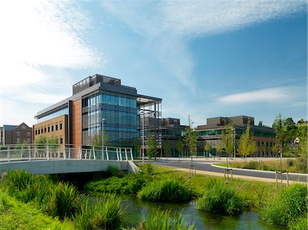
[[[278,158],[279,159],[279,158]],[[240,158],[235,159],[236,161]],[[248,158],[248,160],[277,160],[277,158]],[[196,174],[200,175],[212,175],[218,177],[224,177],[225,167],[217,167],[213,164],[224,163],[225,158],[159,158],[156,161],[151,161],[152,164],[162,165],[165,167],[174,167],[177,171],[189,172],[189,165],[196,166]],[[234,159],[231,159],[234,162]],[[233,178],[254,180],[259,182],[276,182],[275,172],[272,171],[259,171],[252,169],[232,169]],[[227,176],[227,175],[226,175]],[[229,175],[231,177],[231,175]],[[289,183],[307,182],[308,174],[304,173],[289,173]],[[287,175],[283,173],[283,184],[287,184]],[[278,182],[281,182],[281,177],[278,175]]]

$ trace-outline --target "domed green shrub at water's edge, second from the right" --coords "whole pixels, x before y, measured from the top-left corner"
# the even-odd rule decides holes
[[[242,203],[235,190],[227,184],[218,183],[209,190],[201,199],[197,201],[200,210],[206,212],[233,215],[242,212]]]

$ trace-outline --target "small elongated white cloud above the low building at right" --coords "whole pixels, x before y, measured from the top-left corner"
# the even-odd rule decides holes
[[[293,98],[292,91],[294,91],[294,89],[286,87],[259,89],[250,92],[222,96],[217,98],[216,101],[226,104],[285,102],[285,100]]]

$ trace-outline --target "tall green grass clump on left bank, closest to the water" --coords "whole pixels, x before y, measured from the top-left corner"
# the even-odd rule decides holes
[[[123,210],[120,198],[115,194],[86,199],[73,216],[76,229],[118,229],[122,223]]]

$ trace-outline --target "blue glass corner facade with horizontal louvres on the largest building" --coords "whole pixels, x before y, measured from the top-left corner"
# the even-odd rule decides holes
[[[104,119],[104,124],[102,123]],[[82,143],[91,145],[107,134],[108,145],[132,147],[138,138],[137,99],[123,94],[100,92],[82,100]]]

